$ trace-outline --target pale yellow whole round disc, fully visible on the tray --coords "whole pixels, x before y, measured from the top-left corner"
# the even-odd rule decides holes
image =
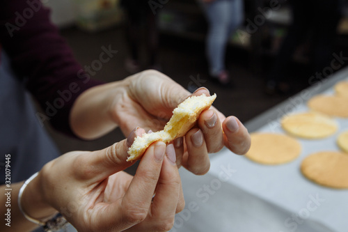
[[[337,123],[332,118],[315,112],[285,116],[281,125],[289,134],[305,139],[329,137],[338,129]]]

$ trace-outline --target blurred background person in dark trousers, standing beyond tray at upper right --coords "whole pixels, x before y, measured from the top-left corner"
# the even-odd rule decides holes
[[[265,93],[286,94],[291,86],[285,82],[287,68],[295,50],[310,36],[310,65],[313,73],[322,72],[333,59],[333,40],[341,17],[340,0],[290,0],[292,24],[276,54],[267,77]]]

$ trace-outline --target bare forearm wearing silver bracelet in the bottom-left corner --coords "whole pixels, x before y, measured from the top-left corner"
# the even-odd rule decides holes
[[[23,182],[11,185],[12,190],[10,191],[10,203],[8,204],[8,207],[0,208],[0,214],[4,215],[5,219],[8,219],[0,224],[0,231],[32,231],[35,227],[38,227],[37,224],[29,222],[19,210],[18,193],[22,185]],[[22,194],[23,210],[27,215],[35,219],[46,218],[54,215],[56,212],[54,208],[51,208],[45,204],[45,201],[43,201],[39,186],[38,178],[35,178],[26,186],[26,189]],[[5,189],[6,185],[2,185],[1,190],[3,190],[3,192],[8,192]],[[0,195],[0,199],[2,203],[8,202],[8,196],[5,194]]]

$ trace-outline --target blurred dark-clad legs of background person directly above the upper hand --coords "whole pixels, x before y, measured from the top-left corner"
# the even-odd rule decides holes
[[[146,0],[121,0],[120,6],[126,13],[126,41],[129,57],[125,60],[125,68],[134,74],[145,68],[161,70],[157,63],[158,29],[157,14],[152,12]],[[145,35],[144,35],[145,34]],[[145,36],[145,38],[144,38]],[[145,52],[148,52],[148,63],[141,63],[141,47],[145,42]]]

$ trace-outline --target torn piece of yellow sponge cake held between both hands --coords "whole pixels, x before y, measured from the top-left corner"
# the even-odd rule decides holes
[[[174,110],[173,116],[168,121],[164,130],[143,134],[142,137],[136,137],[132,146],[128,150],[127,161],[139,160],[145,150],[155,141],[164,141],[168,144],[178,137],[184,136],[196,123],[200,113],[208,109],[216,98],[216,94],[207,97],[205,94],[190,98],[180,103]]]

